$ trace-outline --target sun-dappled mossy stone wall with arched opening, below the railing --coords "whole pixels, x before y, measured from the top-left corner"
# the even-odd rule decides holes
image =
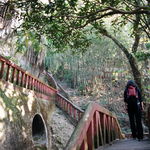
[[[34,91],[1,80],[0,149],[50,150],[54,99],[41,99]]]

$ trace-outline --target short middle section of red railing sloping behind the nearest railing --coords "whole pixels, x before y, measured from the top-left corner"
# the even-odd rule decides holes
[[[84,113],[82,109],[71,103],[68,99],[60,94],[57,94],[56,105],[65,111],[69,117],[75,121],[75,123],[81,119]]]

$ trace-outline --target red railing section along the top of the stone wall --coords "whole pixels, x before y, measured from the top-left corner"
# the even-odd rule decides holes
[[[50,96],[57,90],[44,84],[37,78],[33,77],[21,67],[15,65],[8,59],[0,55],[0,80],[9,81],[14,85],[21,86],[26,89],[34,90],[38,93]]]

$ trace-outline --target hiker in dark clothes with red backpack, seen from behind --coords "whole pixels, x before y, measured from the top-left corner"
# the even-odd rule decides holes
[[[124,102],[129,115],[132,137],[143,139],[143,127],[141,121],[141,112],[143,102],[141,92],[133,80],[129,80],[124,91]]]

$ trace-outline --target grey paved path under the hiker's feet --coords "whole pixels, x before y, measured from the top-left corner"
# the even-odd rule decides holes
[[[112,145],[107,145],[104,148],[98,150],[150,150],[150,139],[144,139],[142,141],[133,139],[124,139],[115,141]]]

